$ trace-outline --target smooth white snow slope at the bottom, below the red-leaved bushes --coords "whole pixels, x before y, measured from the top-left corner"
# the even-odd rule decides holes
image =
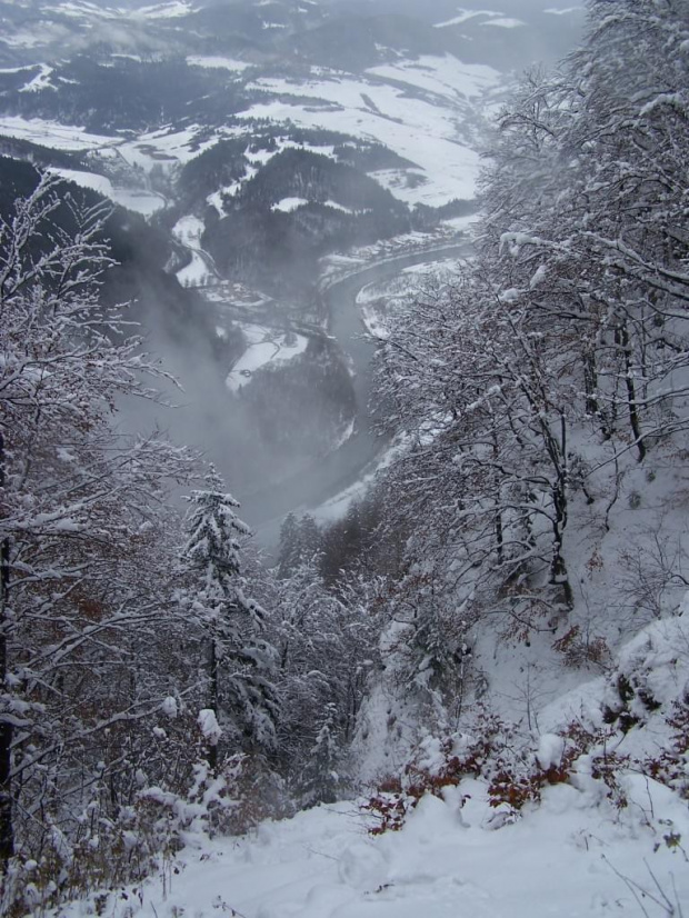
[[[625,878],[657,892],[649,870],[669,897],[676,887],[686,904],[689,871],[662,842],[661,821],[686,838],[686,807],[638,776],[628,777],[627,790],[633,805],[618,811],[607,801],[593,805],[587,791],[553,786],[540,808],[493,829],[486,788],[469,779],[443,799],[425,797],[401,831],[378,837],[367,834],[375,822],[356,801],[320,806],[263,822],[242,838],[187,849],[179,872],[167,870],[164,881],[161,876],[137,892],[110,894],[104,914],[629,918],[640,912]],[[86,906],[61,914],[77,918]]]

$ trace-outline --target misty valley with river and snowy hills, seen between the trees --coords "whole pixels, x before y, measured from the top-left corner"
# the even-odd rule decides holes
[[[153,419],[218,465],[251,520],[252,496],[366,438],[372,347],[329,285],[461,242],[489,118],[582,18],[308,0],[12,2],[0,20],[6,200],[32,163],[132,212],[108,296],[133,301],[184,390]],[[332,488],[373,458],[350,445]]]

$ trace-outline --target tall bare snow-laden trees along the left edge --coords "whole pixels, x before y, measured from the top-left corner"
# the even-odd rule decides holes
[[[14,851],[67,862],[83,806],[116,817],[131,801],[139,725],[179,688],[162,508],[190,457],[112,426],[120,399],[156,397],[144,380],[161,370],[100,303],[106,216],[42,178],[0,220],[4,866]]]

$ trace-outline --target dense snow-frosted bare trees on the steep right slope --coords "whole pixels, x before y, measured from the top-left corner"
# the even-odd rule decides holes
[[[387,513],[413,520],[407,557],[445,570],[470,620],[556,629],[571,501],[609,488],[611,506],[609,479],[689,428],[687,12],[590,4],[582,48],[500,118],[463,278],[381,341],[410,443]]]

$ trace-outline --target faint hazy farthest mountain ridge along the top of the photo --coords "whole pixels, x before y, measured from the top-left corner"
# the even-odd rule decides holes
[[[576,39],[582,21],[576,8],[561,7],[567,16],[560,17],[552,14],[557,3],[546,4],[547,0],[522,0],[501,12],[465,10],[443,0],[432,7],[405,0],[2,0],[0,64],[32,63],[38,54],[43,60],[63,58],[66,52],[170,54],[230,49],[256,62],[294,57],[313,62],[313,54],[334,48],[338,58],[349,50],[352,60],[366,58],[367,66],[400,52],[450,52],[510,68],[532,57],[555,59]],[[521,30],[518,41],[509,34],[513,28]]]

